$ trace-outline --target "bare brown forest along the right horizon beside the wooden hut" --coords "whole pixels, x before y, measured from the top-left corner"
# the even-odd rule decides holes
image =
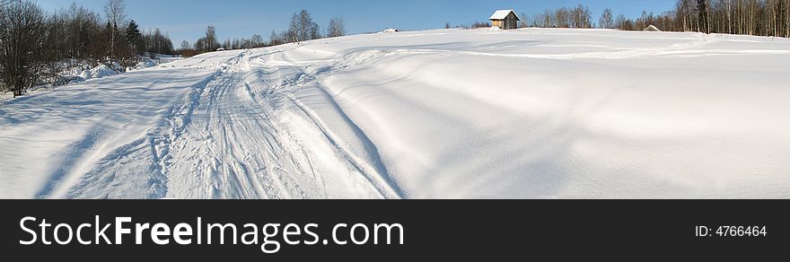
[[[790,37],[790,0],[679,0],[670,11],[655,14],[643,11],[636,19],[614,16],[607,8],[600,19],[592,20],[584,5],[562,7],[534,14],[521,13],[519,27],[601,28],[642,31],[651,24],[662,31],[697,31],[754,36]],[[461,28],[490,27],[474,22]],[[450,23],[445,28],[452,28]]]

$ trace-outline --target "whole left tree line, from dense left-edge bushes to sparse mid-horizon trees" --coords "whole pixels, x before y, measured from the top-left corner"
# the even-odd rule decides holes
[[[346,34],[342,18],[329,21],[326,34],[313,22],[311,13],[294,13],[287,31],[272,32],[269,40],[220,42],[214,26],[194,44],[183,41],[175,48],[166,31],[143,30],[127,17],[123,0],[107,0],[102,12],[77,4],[45,13],[32,0],[0,0],[0,92],[20,96],[34,86],[69,83],[75,68],[106,65],[123,73],[148,57],[194,56],[222,49],[261,48]]]

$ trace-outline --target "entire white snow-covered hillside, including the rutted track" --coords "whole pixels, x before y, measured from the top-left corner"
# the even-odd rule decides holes
[[[437,30],[0,101],[3,198],[787,198],[790,41]]]

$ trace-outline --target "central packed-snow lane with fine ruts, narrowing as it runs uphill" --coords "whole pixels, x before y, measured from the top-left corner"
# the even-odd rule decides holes
[[[244,81],[248,66],[241,53],[224,63],[206,87],[200,106],[175,144],[168,169],[170,197],[307,198],[321,197],[300,180],[306,173],[284,149],[268,123],[259,97]]]

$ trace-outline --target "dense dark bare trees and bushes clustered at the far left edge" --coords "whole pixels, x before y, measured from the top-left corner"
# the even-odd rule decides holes
[[[173,52],[166,32],[143,33],[127,20],[123,0],[109,0],[102,11],[71,4],[45,13],[31,0],[0,2],[0,88],[19,96],[35,84],[59,81],[60,72],[75,66],[123,71],[146,52]]]

